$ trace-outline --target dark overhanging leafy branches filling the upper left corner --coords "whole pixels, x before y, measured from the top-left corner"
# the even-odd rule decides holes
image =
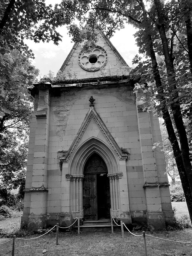
[[[81,2],[81,1],[80,1]],[[0,115],[9,113],[7,97],[25,98],[26,87],[32,86],[30,72],[18,69],[12,74],[7,54],[13,62],[18,53],[22,58],[33,58],[32,50],[24,43],[24,38],[36,43],[53,41],[58,45],[61,35],[59,26],[70,25],[72,21],[86,13],[79,1],[62,1],[61,4],[46,5],[45,0],[4,0],[0,5]]]

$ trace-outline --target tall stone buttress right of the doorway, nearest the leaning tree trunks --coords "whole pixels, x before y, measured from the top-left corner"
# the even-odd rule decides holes
[[[137,112],[141,159],[143,166],[144,189],[146,195],[147,222],[156,229],[165,228],[164,213],[161,209],[161,197],[155,163],[155,153],[152,149],[153,140],[149,113],[142,109]]]

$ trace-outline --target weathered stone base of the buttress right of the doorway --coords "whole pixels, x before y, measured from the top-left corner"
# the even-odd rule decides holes
[[[147,211],[147,224],[157,230],[164,229],[166,227],[164,213]]]

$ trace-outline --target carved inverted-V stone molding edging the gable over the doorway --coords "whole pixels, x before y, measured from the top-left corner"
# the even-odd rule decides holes
[[[74,139],[72,145],[70,146],[70,149],[67,152],[67,155],[65,157],[60,158],[60,160],[62,161],[68,161],[70,160],[71,156],[73,155],[77,145],[79,144],[79,141],[81,140],[89,122],[91,121],[91,119],[94,119],[96,124],[98,125],[99,129],[101,130],[101,132],[103,133],[103,135],[105,136],[105,138],[107,139],[107,142],[109,143],[111,149],[113,150],[113,152],[116,154],[116,156],[119,158],[119,160],[125,160],[128,158],[127,154],[122,153],[121,149],[119,148],[119,146],[117,145],[116,141],[113,139],[112,136],[110,136],[110,132],[108,131],[107,127],[105,126],[105,124],[102,122],[101,118],[98,116],[98,114],[96,113],[96,111],[94,110],[94,108],[92,107],[87,116],[85,117],[85,120],[81,126],[81,128],[79,129],[79,132],[76,136],[76,138]]]

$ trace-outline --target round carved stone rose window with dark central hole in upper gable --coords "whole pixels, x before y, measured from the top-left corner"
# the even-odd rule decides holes
[[[84,50],[82,50],[78,56],[79,65],[87,71],[97,71],[103,68],[107,64],[107,61],[107,52],[101,46],[96,46],[89,53],[85,53]]]

